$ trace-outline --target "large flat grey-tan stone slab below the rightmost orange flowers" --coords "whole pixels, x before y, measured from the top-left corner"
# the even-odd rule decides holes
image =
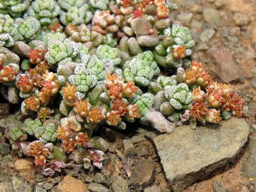
[[[235,158],[248,135],[245,120],[232,117],[219,124],[198,126],[196,130],[181,126],[153,141],[166,179],[179,192]]]

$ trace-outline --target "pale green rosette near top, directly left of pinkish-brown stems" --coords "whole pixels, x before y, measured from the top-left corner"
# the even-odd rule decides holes
[[[82,23],[89,23],[92,19],[92,12],[89,11],[89,6],[83,4],[80,7],[71,6],[67,12],[63,12],[60,16],[60,21],[63,25],[67,26],[72,23],[75,26],[81,25]]]

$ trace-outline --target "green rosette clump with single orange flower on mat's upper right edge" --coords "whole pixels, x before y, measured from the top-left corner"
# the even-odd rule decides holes
[[[182,67],[182,59],[190,56],[195,45],[189,29],[174,23],[164,30],[164,39],[155,47],[154,57],[163,67]]]

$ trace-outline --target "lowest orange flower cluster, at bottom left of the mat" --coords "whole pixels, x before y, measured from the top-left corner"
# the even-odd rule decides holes
[[[44,166],[46,164],[46,157],[51,154],[51,151],[41,141],[36,140],[29,143],[27,154],[35,157],[34,163],[36,166]]]

